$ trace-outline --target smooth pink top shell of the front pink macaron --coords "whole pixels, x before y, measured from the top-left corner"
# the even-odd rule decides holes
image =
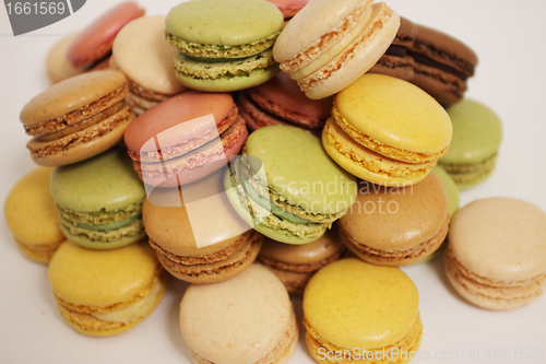
[[[195,119],[212,115],[216,127],[234,110],[233,96],[222,93],[186,92],[159,103],[139,116],[124,134],[129,151],[151,152],[157,146],[150,140],[159,137],[162,148],[178,145],[201,137],[210,130],[212,119]],[[176,127],[170,132],[170,128]],[[176,132],[175,132],[176,131]]]

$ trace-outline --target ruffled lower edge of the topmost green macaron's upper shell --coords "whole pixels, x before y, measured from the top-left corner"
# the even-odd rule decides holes
[[[165,31],[165,38],[176,49],[186,55],[201,58],[245,58],[273,47],[281,31],[246,45],[212,45],[187,42]]]

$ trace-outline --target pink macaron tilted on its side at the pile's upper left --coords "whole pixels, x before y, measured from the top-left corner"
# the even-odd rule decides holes
[[[111,46],[119,31],[131,21],[143,16],[144,9],[136,2],[122,2],[97,17],[72,40],[67,58],[75,68],[92,69],[104,63],[108,68]]]

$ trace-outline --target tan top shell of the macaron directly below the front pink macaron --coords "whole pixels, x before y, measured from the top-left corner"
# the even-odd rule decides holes
[[[238,240],[250,226],[233,210],[224,193],[224,173],[218,171],[183,186],[181,193],[177,188],[152,190],[142,206],[150,238],[181,257],[212,255]]]

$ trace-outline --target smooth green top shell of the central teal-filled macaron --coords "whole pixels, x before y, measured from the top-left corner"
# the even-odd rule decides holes
[[[307,211],[339,213],[356,198],[354,177],[330,160],[309,131],[287,126],[258,129],[248,138],[245,153],[262,162],[272,190]]]

